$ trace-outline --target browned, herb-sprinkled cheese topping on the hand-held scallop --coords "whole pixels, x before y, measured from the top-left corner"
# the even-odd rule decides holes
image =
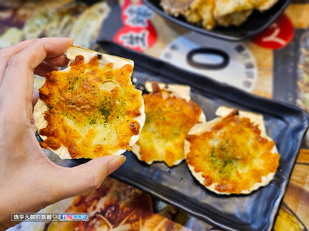
[[[70,67],[69,72],[46,74],[39,89],[40,99],[49,108],[44,115],[48,125],[39,131],[47,137],[41,146],[57,150],[63,144],[72,158],[111,155],[108,151],[120,148],[131,150],[130,138],[140,128],[134,117],[141,115],[142,106],[141,92],[130,79],[133,67],[127,64],[112,70],[109,63],[99,68],[97,57],[85,64],[82,55],[76,56]],[[92,144],[97,135],[95,127],[108,129],[111,125],[117,133],[116,141]]]

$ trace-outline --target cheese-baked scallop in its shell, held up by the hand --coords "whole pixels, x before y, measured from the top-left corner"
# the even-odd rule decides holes
[[[145,122],[142,91],[131,81],[133,61],[71,46],[74,62],[46,74],[34,107],[35,125],[61,159],[121,155]]]

